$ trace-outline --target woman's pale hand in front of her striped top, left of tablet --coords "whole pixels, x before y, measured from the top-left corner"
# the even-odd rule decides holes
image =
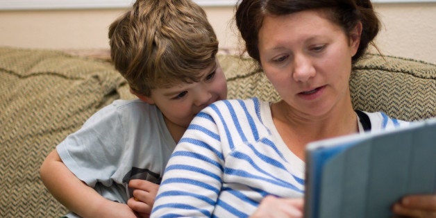
[[[258,209],[250,217],[303,217],[303,205],[302,198],[281,199],[269,195],[260,202]]]

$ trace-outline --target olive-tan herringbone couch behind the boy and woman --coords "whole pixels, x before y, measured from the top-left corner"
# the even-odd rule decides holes
[[[253,60],[224,50],[218,58],[228,98],[279,99]],[[356,109],[408,121],[436,116],[434,64],[369,53],[353,66],[350,84]],[[94,112],[131,98],[108,56],[0,47],[0,217],[65,214],[40,181],[44,157]]]

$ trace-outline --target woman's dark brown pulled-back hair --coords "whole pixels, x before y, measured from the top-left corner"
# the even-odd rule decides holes
[[[304,10],[323,9],[328,18],[341,26],[349,35],[358,22],[362,22],[362,35],[357,53],[352,61],[357,61],[372,43],[380,21],[370,0],[240,0],[237,3],[235,20],[245,49],[249,56],[260,62],[258,33],[267,15],[289,15]]]

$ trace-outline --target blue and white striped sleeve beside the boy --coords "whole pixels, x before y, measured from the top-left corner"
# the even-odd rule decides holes
[[[228,101],[221,101],[194,118],[169,159],[152,217],[212,216],[224,175],[223,144],[229,149],[233,144],[233,112]]]

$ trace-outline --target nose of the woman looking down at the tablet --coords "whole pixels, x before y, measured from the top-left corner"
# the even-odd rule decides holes
[[[310,58],[304,55],[296,56],[294,60],[294,69],[292,77],[297,82],[308,81],[309,78],[315,76],[315,67],[312,65]]]

